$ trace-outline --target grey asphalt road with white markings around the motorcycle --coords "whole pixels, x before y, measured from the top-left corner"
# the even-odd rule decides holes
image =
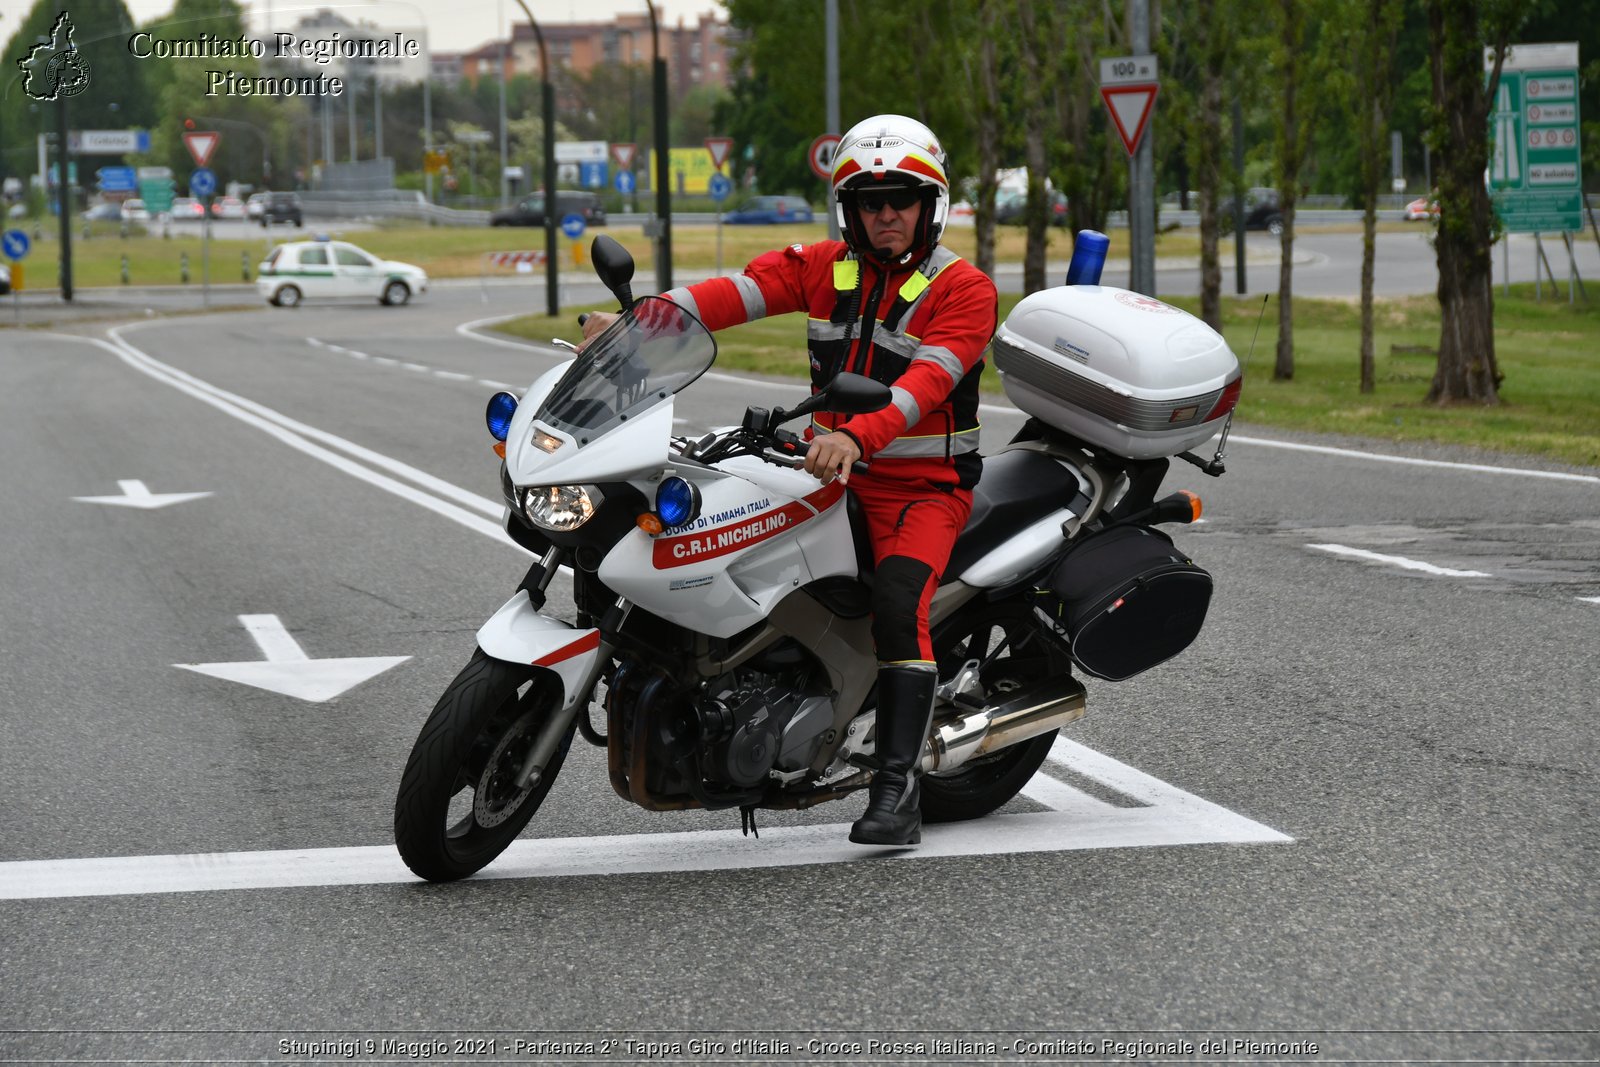
[[[1237,427],[1170,480],[1205,633],[1091,683],[1005,814],[899,859],[843,843],[859,800],[755,841],[626,806],[579,742],[499,877],[411,880],[406,752],[526,565],[483,402],[554,358],[458,328],[523,299],[0,333],[0,1059],[1600,1054],[1595,469]],[[133,482],[210,496],[74,499]],[[179,667],[264,659],[266,614],[405,659],[325,702]]]

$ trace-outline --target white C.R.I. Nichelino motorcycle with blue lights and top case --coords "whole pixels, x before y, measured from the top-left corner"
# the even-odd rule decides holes
[[[875,411],[890,389],[845,373],[792,408],[750,406],[739,426],[675,435],[674,398],[717,344],[672,301],[634,299],[621,245],[597,238],[592,261],[622,314],[522,397],[488,406],[506,531],[534,561],[406,761],[395,841],[422,878],[462,878],[499,856],[576,736],[606,750],[624,800],[739,808],[746,832],[762,808],[848,797],[875,766],[864,523],[838,480],[802,469],[806,443],[784,426]],[[1032,418],[986,456],[930,608],[930,824],[987,816],[1022,789],[1085,712],[1074,667],[1131,677],[1198,633],[1210,576],[1157,530],[1197,518],[1198,498],[1155,494],[1173,456],[1222,472],[1238,400],[1238,362],[1219,336],[1109,286],[1026,298],[992,354]],[[1219,429],[1211,461],[1187,451]],[[544,613],[563,569],[570,621]]]

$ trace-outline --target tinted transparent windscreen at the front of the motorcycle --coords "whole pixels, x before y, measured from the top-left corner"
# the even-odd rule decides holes
[[[595,438],[686,389],[717,360],[699,318],[645,296],[590,341],[534,414],[578,438]]]

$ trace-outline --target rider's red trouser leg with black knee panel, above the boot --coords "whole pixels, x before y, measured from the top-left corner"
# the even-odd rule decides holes
[[[878,664],[933,669],[928,603],[973,510],[973,494],[941,493],[922,480],[888,482],[870,475],[851,478],[850,491],[861,501],[877,565],[872,641]]]

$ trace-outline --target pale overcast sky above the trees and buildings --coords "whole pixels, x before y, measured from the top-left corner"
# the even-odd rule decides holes
[[[123,0],[136,22],[146,22],[173,10],[171,0]],[[290,29],[302,14],[318,8],[336,8],[346,18],[366,19],[379,26],[427,27],[427,46],[434,51],[467,51],[504,35],[507,21],[523,19],[515,0],[243,0],[251,13],[253,29],[264,29],[267,11],[274,29]],[[544,22],[610,22],[619,11],[643,13],[645,0],[526,0],[533,16]],[[10,40],[18,22],[32,8],[32,0],[0,0],[0,43]],[[67,11],[72,0],[67,0]],[[718,0],[656,0],[664,26],[678,18],[693,26],[699,14],[717,11]],[[421,18],[419,18],[421,16]]]

